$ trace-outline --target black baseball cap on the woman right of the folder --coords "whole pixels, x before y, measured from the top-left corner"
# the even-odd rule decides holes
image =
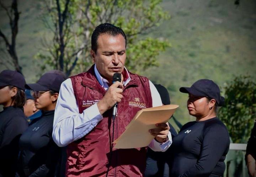
[[[219,86],[209,79],[200,79],[191,87],[181,87],[180,92],[215,99],[218,106],[223,106],[225,102],[225,98],[220,96]]]

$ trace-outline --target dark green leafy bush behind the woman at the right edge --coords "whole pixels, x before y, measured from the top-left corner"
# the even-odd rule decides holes
[[[238,76],[224,90],[225,105],[219,118],[234,143],[247,143],[256,119],[256,84],[250,76]]]

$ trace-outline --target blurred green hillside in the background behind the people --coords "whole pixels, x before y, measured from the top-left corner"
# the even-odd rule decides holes
[[[162,6],[171,19],[148,35],[168,39],[172,47],[159,56],[159,67],[140,74],[168,88],[171,103],[180,105],[175,117],[185,123],[194,119],[187,114],[187,95],[178,91],[180,86],[191,86],[202,78],[222,87],[236,75],[256,78],[256,1],[241,0],[235,6],[234,0],[165,0]],[[19,4],[17,53],[27,82],[38,79],[38,61],[33,56],[42,47],[42,38],[50,34],[40,19],[40,8],[39,1]],[[3,11],[0,20],[0,28],[7,33],[9,24]]]

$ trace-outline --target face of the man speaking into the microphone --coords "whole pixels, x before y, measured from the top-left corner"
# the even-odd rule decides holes
[[[114,73],[122,73],[124,70],[126,41],[121,34],[102,34],[98,36],[97,42],[97,52],[91,50],[93,62],[101,76],[111,83]]]

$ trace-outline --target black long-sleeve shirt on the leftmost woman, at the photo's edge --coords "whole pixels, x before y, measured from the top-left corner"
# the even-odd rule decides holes
[[[27,127],[22,108],[9,106],[0,112],[0,176],[15,176],[18,141]]]

